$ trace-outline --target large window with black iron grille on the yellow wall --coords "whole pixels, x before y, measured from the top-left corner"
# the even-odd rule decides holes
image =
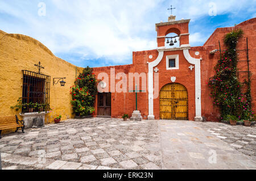
[[[22,73],[22,112],[49,111],[51,77],[28,70]]]

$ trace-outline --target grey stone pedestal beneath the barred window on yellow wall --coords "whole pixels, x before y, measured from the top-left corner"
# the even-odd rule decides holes
[[[44,127],[44,121],[46,119],[47,113],[49,112],[28,112],[19,113],[19,115],[23,117],[25,129],[28,129],[33,127],[36,118],[43,120],[43,125],[40,124],[40,127]],[[38,128],[38,126],[34,125],[34,128]]]

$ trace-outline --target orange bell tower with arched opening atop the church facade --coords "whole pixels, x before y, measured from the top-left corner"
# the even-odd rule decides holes
[[[175,20],[176,16],[171,15],[168,22],[160,22],[155,24],[155,30],[158,32],[157,42],[158,48],[165,47],[166,35],[176,33],[179,36],[180,47],[189,47],[188,24],[190,19]]]

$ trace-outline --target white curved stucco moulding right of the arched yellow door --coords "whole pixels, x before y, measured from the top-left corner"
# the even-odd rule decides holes
[[[189,64],[195,65],[195,104],[196,104],[196,117],[195,120],[203,120],[201,115],[201,58],[193,58],[189,54],[188,49],[183,50],[184,57]]]

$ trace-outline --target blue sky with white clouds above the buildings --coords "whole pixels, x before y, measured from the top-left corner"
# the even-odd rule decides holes
[[[77,66],[124,65],[132,64],[133,51],[156,48],[155,23],[167,22],[170,5],[176,7],[176,20],[191,19],[189,39],[194,47],[203,45],[218,27],[255,18],[255,4],[256,0],[0,0],[0,30],[34,37]]]

